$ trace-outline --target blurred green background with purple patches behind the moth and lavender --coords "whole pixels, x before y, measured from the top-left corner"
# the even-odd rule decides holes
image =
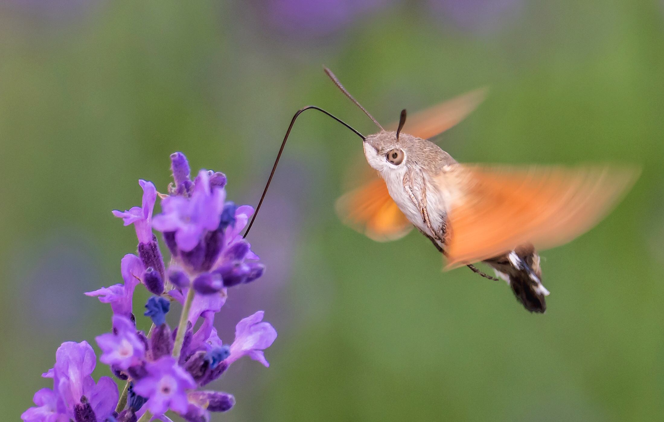
[[[113,209],[169,153],[256,204],[294,111],[375,128],[479,86],[439,145],[461,162],[641,165],[618,208],[544,251],[545,315],[412,233],[378,244],[333,204],[357,137],[303,115],[250,235],[266,275],[230,292],[222,339],[266,310],[272,366],[212,387],[228,421],[651,421],[664,414],[664,3],[635,0],[1,0],[0,413],[17,420],[64,340],[106,332],[82,292],[121,281]],[[135,297],[135,313],[147,295]],[[143,323],[143,322],[141,322]],[[95,376],[107,375],[99,365]],[[216,419],[214,419],[216,418]]]

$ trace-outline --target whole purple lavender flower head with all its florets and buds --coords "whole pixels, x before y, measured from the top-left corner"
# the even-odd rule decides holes
[[[129,253],[122,259],[124,283],[86,293],[112,307],[112,331],[96,341],[102,350],[100,362],[125,381],[123,393],[110,377],[94,382],[90,374],[96,356],[87,342],[64,342],[54,368],[43,374],[54,380],[53,389],[35,393],[36,406],[21,415],[23,421],[170,421],[165,412],[171,410],[187,421],[205,422],[210,412],[227,411],[235,399],[201,387],[242,356],[269,366],[263,350],[277,332],[263,321],[263,311],[238,322],[231,344],[222,343],[214,328],[214,315],[224,305],[228,288],[250,283],[264,272],[240,236],[254,210],[226,201],[222,173],[201,170],[191,180],[182,153],[171,155],[171,170],[174,182],[168,194],[161,195],[161,214],[153,216],[159,194],[145,180],[139,180],[141,206],[113,212],[125,226],[133,224],[139,242],[137,255]],[[161,232],[169,248],[168,266],[153,229]],[[154,295],[145,304],[144,315],[153,322],[147,335],[137,330],[131,312],[139,284]],[[183,305],[183,315],[179,326],[171,329],[165,317],[173,301]]]

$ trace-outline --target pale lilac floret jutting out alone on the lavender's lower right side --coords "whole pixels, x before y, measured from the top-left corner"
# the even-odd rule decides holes
[[[270,366],[263,350],[272,345],[277,338],[277,331],[270,322],[263,322],[263,315],[263,311],[258,311],[238,322],[235,326],[235,340],[230,345],[230,356],[226,363],[230,365],[246,355],[264,366]]]

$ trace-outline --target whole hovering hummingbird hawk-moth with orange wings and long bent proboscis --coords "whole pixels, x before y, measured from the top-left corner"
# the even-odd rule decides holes
[[[380,131],[365,137],[319,107],[297,111],[244,236],[258,214],[295,119],[306,109],[317,109],[363,139],[365,158],[373,169],[364,184],[337,200],[337,214],[345,224],[379,242],[400,239],[417,228],[444,255],[446,269],[466,265],[498,280],[475,268],[473,263],[481,261],[507,281],[526,309],[544,313],[549,292],[542,285],[537,250],[560,246],[592,228],[639,174],[630,167],[608,165],[457,163],[428,139],[475,109],[484,90],[420,111],[407,123],[404,109],[398,124],[384,129],[329,69],[325,72]]]

